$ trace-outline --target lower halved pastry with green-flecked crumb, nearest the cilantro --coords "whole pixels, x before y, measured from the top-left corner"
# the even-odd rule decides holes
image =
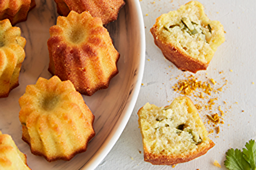
[[[144,161],[173,165],[204,155],[214,147],[196,107],[186,96],[157,107],[149,103],[138,111]]]

